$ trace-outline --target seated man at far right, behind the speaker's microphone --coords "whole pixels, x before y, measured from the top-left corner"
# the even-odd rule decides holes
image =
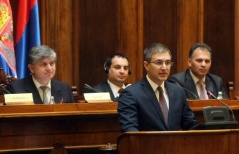
[[[172,75],[168,79],[169,82],[182,86],[188,99],[210,99],[207,91],[216,97],[221,91],[223,98],[227,98],[222,78],[209,73],[211,56],[211,48],[207,44],[194,44],[189,51],[189,68],[184,72]]]

